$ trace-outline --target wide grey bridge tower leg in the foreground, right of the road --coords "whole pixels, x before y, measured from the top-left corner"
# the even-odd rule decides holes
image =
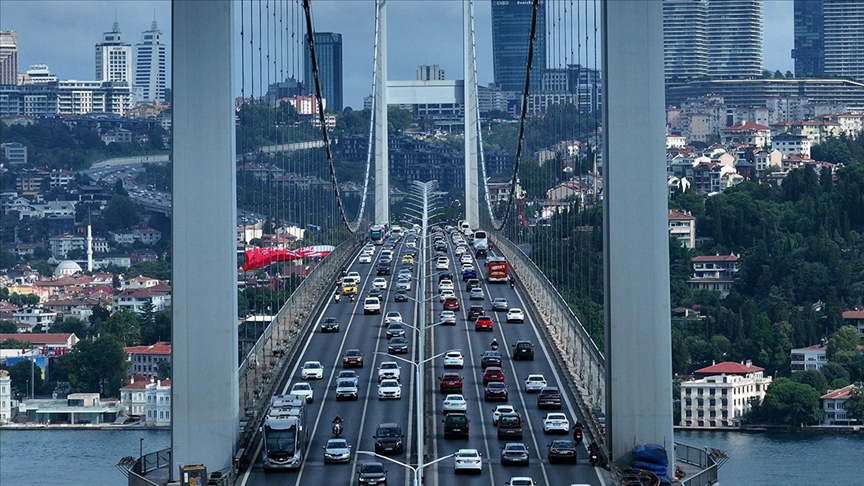
[[[629,465],[661,444],[674,467],[663,3],[602,5],[607,445]]]

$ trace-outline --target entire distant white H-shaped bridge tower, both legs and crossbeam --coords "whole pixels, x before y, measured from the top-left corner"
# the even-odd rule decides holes
[[[465,219],[480,223],[477,172],[477,78],[474,69],[473,0],[462,0],[463,80],[387,80],[387,0],[376,0],[375,31],[375,221],[390,220],[390,161],[388,158],[387,106],[389,104],[464,103],[465,106]]]

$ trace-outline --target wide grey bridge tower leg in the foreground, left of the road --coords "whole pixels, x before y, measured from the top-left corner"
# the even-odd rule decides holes
[[[231,466],[240,400],[234,2],[174,1],[172,11],[171,477],[177,480],[180,465]]]

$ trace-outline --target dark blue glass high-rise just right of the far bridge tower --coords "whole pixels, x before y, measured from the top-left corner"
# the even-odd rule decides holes
[[[525,89],[532,2],[492,2],[492,62],[495,84],[503,91]],[[531,91],[539,91],[546,69],[546,4],[540,2],[531,64]]]

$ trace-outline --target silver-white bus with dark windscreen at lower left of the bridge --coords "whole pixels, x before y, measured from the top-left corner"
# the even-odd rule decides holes
[[[298,469],[306,453],[306,400],[276,395],[264,419],[264,470]]]

